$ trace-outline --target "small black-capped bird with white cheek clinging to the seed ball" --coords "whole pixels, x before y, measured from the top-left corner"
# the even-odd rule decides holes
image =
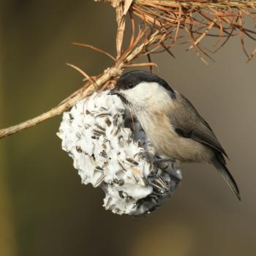
[[[138,118],[157,153],[180,162],[214,165],[241,200],[227,169],[225,150],[189,100],[162,78],[143,70],[127,72],[109,93],[116,94]]]

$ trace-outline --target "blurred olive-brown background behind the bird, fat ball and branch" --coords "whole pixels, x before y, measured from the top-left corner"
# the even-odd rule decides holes
[[[1,0],[0,127],[37,116],[111,64],[70,45],[115,53],[115,12],[82,0]],[[249,42],[251,47],[252,42]],[[174,48],[154,56],[159,75],[205,116],[229,154],[242,202],[207,165],[184,165],[181,187],[148,217],[102,208],[100,189],[80,184],[56,137],[56,117],[0,141],[0,255],[255,255],[255,63],[233,38],[203,64]]]

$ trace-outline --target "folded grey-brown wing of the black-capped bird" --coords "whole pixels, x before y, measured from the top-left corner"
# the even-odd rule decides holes
[[[171,111],[169,119],[177,134],[214,148],[227,157],[213,130],[192,103],[181,94],[176,100],[177,107]]]

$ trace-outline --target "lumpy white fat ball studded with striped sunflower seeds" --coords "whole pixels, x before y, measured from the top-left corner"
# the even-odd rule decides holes
[[[116,214],[148,214],[173,195],[181,172],[175,165],[165,164],[164,170],[140,157],[138,153],[145,150],[155,154],[154,148],[138,121],[133,133],[124,123],[132,127],[124,104],[104,91],[65,112],[57,135],[82,184],[105,191],[106,209]]]

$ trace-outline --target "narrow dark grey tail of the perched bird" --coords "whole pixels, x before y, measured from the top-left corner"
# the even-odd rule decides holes
[[[236,197],[238,197],[238,200],[241,201],[238,185],[236,184],[236,181],[231,175],[230,171],[227,169],[225,158],[222,156],[221,153],[217,152],[212,162],[217,170],[219,170],[219,172],[222,174],[227,185],[230,187],[230,189],[232,189]]]

